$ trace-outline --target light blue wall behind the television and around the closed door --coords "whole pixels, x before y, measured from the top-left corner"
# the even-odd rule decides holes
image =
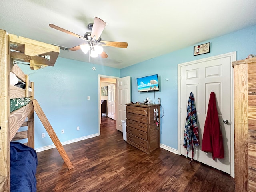
[[[136,78],[158,74],[160,91],[155,92],[157,99],[161,98],[161,130],[160,143],[178,149],[178,64],[198,60],[219,54],[237,52],[237,60],[244,59],[248,54],[256,54],[256,26],[218,38],[199,42],[196,45],[210,42],[210,53],[194,56],[194,46],[190,46],[163,56],[123,68],[120,76],[131,76],[132,102],[143,101],[147,97],[154,101],[154,92],[138,93]],[[168,79],[166,81],[165,79]],[[185,119],[184,119],[185,121]]]

